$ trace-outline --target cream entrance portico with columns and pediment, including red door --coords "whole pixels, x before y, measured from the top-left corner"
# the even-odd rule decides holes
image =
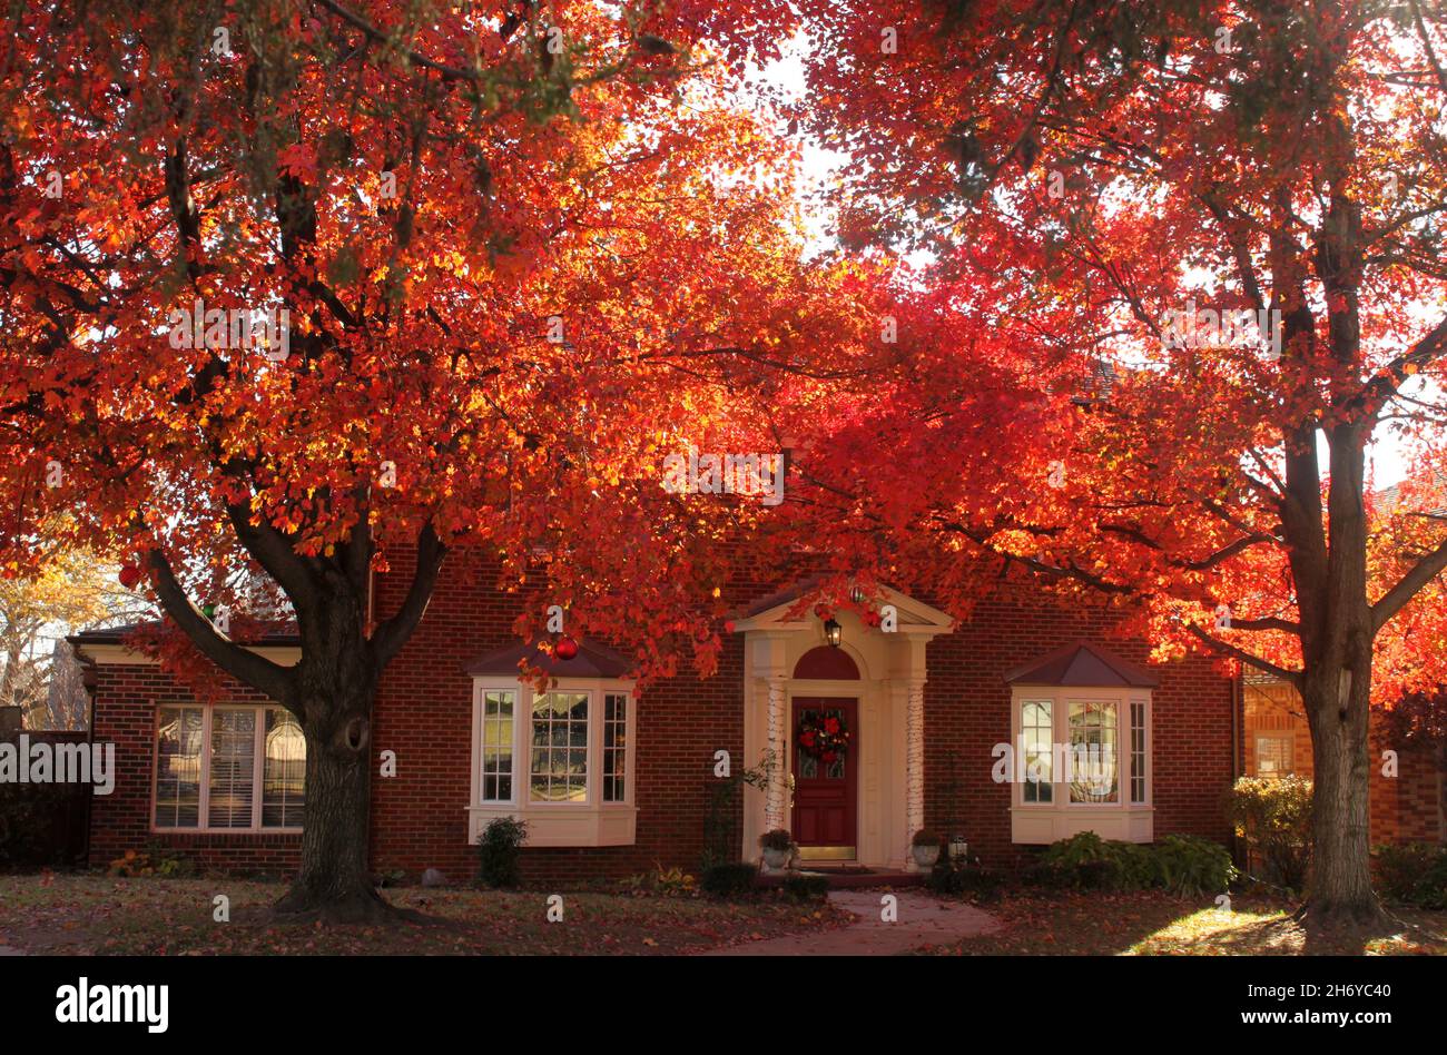
[[[913,867],[909,842],[925,823],[925,645],[952,619],[883,589],[894,630],[841,611],[831,645],[822,619],[790,614],[803,590],[767,598],[735,622],[745,641],[744,764],[776,763],[765,790],[744,796],[744,860],[758,858],[763,832],[784,828],[806,861]],[[816,721],[848,728],[838,757],[799,742]]]

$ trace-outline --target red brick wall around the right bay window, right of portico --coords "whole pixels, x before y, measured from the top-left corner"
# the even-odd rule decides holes
[[[991,748],[1010,740],[1004,674],[1081,638],[1147,666],[1145,644],[1107,637],[1117,619],[1101,609],[1064,611],[1027,595],[997,598],[929,644],[926,826],[942,835],[961,831],[987,864],[1027,860],[1030,848],[1010,841],[1010,784],[991,779]],[[1229,844],[1221,796],[1231,783],[1231,682],[1202,657],[1147,669],[1160,679],[1152,692],[1155,834]]]

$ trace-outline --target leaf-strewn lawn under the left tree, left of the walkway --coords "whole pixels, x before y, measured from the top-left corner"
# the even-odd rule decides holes
[[[829,906],[761,896],[567,893],[548,922],[548,891],[395,889],[428,925],[276,925],[281,883],[233,878],[122,878],[103,874],[0,876],[0,946],[52,955],[657,955],[822,931],[848,922]],[[213,899],[230,899],[230,922]]]

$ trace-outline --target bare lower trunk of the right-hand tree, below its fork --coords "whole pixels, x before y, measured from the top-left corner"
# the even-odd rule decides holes
[[[1359,670],[1370,671],[1367,661]],[[1323,663],[1307,671],[1304,698],[1314,763],[1312,864],[1304,915],[1323,928],[1383,919],[1372,891],[1370,673]]]

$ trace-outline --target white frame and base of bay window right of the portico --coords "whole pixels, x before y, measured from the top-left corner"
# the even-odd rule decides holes
[[[1071,802],[1069,784],[1058,768],[1051,773],[1051,802],[1026,802],[1022,774],[1011,781],[1010,829],[1013,842],[1042,844],[1065,839],[1082,831],[1126,842],[1150,842],[1155,815],[1155,708],[1149,689],[1090,689],[1075,686],[1011,686],[1010,750],[1020,745],[1024,703],[1051,705],[1052,745],[1069,744],[1069,705],[1082,700],[1116,703],[1116,792],[1117,802]],[[1130,802],[1134,758],[1130,750],[1130,705],[1145,703],[1146,799]]]

